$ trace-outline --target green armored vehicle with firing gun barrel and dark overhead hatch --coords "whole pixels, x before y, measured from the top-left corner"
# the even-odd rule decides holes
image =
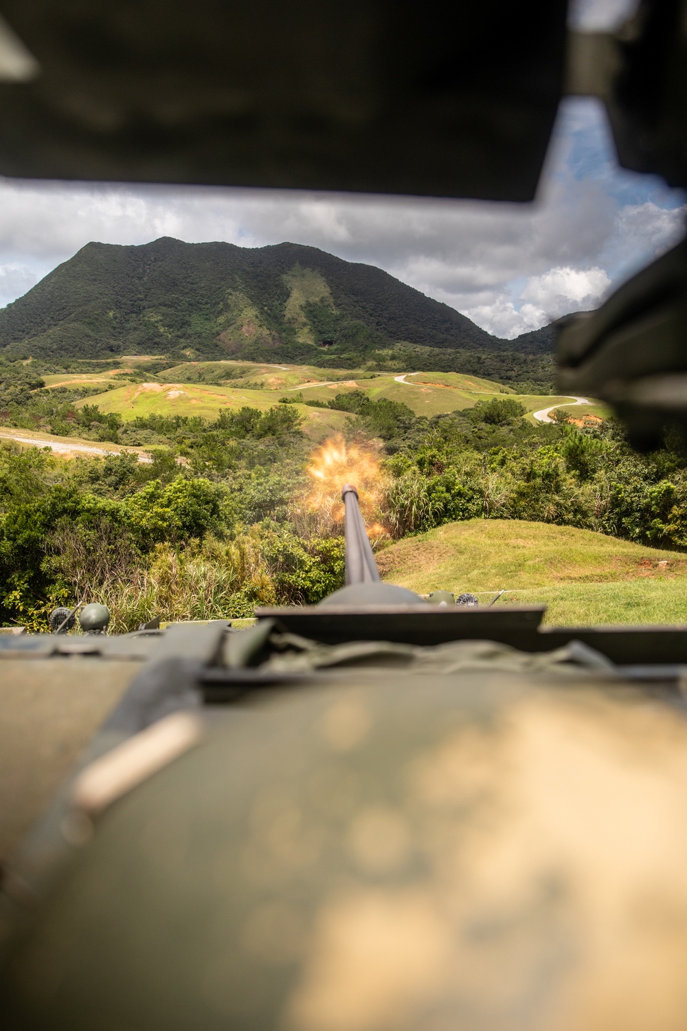
[[[526,201],[573,92],[687,182],[678,0],[0,10],[4,174]],[[681,245],[560,332],[641,446],[687,421],[686,298]],[[687,627],[427,603],[344,501],[318,606],[0,638],[3,1027],[684,1026]]]

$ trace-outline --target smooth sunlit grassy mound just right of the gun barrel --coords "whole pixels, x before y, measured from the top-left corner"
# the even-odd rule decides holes
[[[506,590],[497,604],[543,602],[549,624],[687,622],[687,556],[589,530],[470,520],[399,541],[378,564],[419,594]]]

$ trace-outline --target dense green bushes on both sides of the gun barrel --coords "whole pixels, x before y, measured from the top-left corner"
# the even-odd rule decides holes
[[[338,525],[303,517],[310,445],[293,405],[125,426],[77,405],[73,392],[35,384],[11,387],[27,421],[42,411],[53,428],[119,441],[148,434],[157,447],[148,463],[131,454],[65,463],[0,447],[0,623],[44,627],[57,603],[88,599],[108,604],[114,629],[132,629],[157,614],[314,603],[342,585]],[[382,447],[380,511],[392,538],[456,520],[521,519],[687,548],[687,457],[675,434],[639,456],[613,421],[533,425],[508,396],[432,419],[363,392],[331,406],[348,412],[358,446],[376,438]]]

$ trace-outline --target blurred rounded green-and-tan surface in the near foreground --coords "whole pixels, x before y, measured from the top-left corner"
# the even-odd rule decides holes
[[[95,824],[65,824],[4,1026],[682,1026],[683,711],[493,657],[421,686],[344,676],[215,714]]]

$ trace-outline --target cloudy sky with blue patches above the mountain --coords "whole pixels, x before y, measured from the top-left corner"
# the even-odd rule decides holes
[[[612,28],[631,0],[578,0]],[[0,305],[90,240],[289,240],[377,265],[512,338],[608,294],[683,235],[687,198],[621,169],[603,105],[563,100],[533,204],[0,178]]]

